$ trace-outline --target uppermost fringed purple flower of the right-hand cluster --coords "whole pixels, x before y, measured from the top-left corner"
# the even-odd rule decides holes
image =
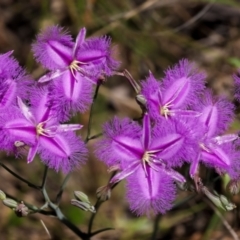
[[[189,110],[189,106],[198,101],[197,95],[204,89],[205,75],[198,73],[192,63],[181,60],[173,69],[166,71],[162,82],[150,73],[142,81],[142,94],[152,118],[199,115]]]

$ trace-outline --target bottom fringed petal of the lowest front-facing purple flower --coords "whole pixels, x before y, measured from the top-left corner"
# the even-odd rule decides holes
[[[148,169],[148,177],[138,168],[127,178],[127,199],[137,215],[165,213],[172,208],[176,188],[168,175]]]

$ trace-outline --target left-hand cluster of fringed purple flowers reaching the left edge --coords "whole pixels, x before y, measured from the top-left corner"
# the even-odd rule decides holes
[[[48,72],[36,83],[11,56],[0,55],[0,149],[39,154],[56,171],[67,173],[87,158],[87,148],[74,131],[80,124],[63,124],[92,103],[93,86],[109,76],[118,62],[107,37],[86,39],[85,28],[76,40],[53,26],[38,35],[33,54]]]

